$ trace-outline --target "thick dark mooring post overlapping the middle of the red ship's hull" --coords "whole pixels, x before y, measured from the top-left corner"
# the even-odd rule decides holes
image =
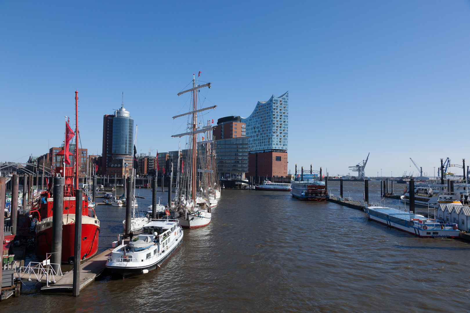
[[[62,262],[62,224],[64,178],[54,177],[54,204],[52,206],[52,255],[55,273],[59,273]]]

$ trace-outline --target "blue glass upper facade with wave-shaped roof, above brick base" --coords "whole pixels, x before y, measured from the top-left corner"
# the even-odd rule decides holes
[[[271,96],[258,101],[255,110],[242,122],[246,123],[249,151],[270,152],[288,149],[289,143],[289,92],[280,97]]]

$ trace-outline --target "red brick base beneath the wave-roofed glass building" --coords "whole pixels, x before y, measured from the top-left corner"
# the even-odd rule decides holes
[[[287,152],[249,153],[245,176],[287,176]]]

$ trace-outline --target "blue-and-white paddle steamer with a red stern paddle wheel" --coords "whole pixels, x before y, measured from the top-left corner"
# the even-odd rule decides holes
[[[310,201],[326,201],[328,191],[325,182],[315,179],[314,174],[298,175],[293,182],[290,183],[290,194],[292,197],[301,200]]]

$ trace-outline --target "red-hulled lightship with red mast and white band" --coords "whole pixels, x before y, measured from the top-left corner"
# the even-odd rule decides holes
[[[78,92],[75,92],[75,118],[76,133],[78,134]],[[73,262],[74,237],[75,237],[75,189],[78,189],[78,141],[75,140],[75,173],[73,167],[66,167],[71,164],[69,160],[69,143],[75,135],[66,122],[64,149],[56,155],[60,156],[63,167],[55,168],[55,175],[65,178],[63,191],[63,226],[62,226],[62,262]],[[78,136],[75,136],[76,138]],[[74,188],[75,183],[75,188]],[[39,208],[34,211],[34,215],[39,215],[36,224],[36,254],[40,259],[46,258],[46,253],[52,249],[52,208],[54,198],[51,196],[53,190],[52,182],[49,182],[47,191],[41,192]],[[80,259],[86,260],[98,251],[98,237],[100,234],[100,221],[96,218],[93,208],[88,207],[88,197],[83,197],[82,203],[82,242]],[[34,206],[33,206],[34,208]],[[91,209],[91,213],[89,212]],[[33,213],[33,211],[31,211]]]

